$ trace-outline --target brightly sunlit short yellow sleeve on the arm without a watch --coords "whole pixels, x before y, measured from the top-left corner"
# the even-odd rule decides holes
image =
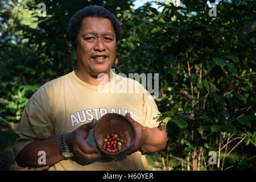
[[[158,106],[155,103],[154,98],[146,89],[144,89],[143,93],[143,126],[147,126],[150,128],[158,127],[159,122],[156,122],[160,114],[158,110]]]

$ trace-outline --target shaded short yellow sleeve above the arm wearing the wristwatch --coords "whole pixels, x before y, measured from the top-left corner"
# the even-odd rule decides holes
[[[53,137],[51,122],[51,91],[42,86],[36,91],[24,107],[14,143],[15,158],[27,144]]]

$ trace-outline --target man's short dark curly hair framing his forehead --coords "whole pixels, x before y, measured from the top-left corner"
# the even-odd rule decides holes
[[[114,28],[117,42],[122,39],[121,25],[115,15],[113,15],[109,10],[105,9],[102,6],[86,6],[84,9],[77,11],[71,17],[68,23],[69,38],[71,39],[72,46],[75,49],[77,47],[77,34],[79,34],[79,31],[81,29],[82,20],[88,16],[109,19]]]

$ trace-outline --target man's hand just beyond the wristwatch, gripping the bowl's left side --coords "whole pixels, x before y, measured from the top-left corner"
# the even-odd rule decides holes
[[[92,147],[86,142],[90,130],[93,129],[96,123],[97,119],[93,119],[92,122],[86,123],[66,135],[66,142],[73,154],[87,160],[97,159],[102,156],[97,147]]]

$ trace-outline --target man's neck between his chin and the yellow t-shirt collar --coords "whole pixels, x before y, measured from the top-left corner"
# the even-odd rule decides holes
[[[88,72],[82,72],[81,70],[76,69],[75,75],[80,80],[86,82],[86,84],[94,85],[94,86],[104,85],[111,80],[110,71],[109,71],[109,73],[104,73],[104,76],[102,75],[102,77],[98,77],[98,75],[90,75],[90,73],[88,73]]]

